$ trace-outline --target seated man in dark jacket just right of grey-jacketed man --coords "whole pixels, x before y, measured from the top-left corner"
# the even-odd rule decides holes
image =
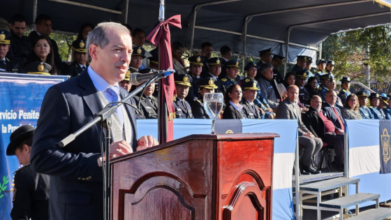
[[[312,96],[311,107],[303,116],[303,123],[316,138],[334,147],[337,160],[332,163],[332,166],[344,172],[344,132],[337,129],[326,112],[323,112],[320,96]]]

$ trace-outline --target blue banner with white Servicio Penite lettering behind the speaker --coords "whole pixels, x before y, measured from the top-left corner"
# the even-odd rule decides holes
[[[3,219],[10,219],[13,173],[20,167],[16,156],[6,156],[10,134],[25,124],[36,127],[47,89],[67,78],[63,75],[0,73],[0,212]]]

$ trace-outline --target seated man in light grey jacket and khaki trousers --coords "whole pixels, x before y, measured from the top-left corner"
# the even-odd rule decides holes
[[[288,98],[282,101],[277,108],[276,119],[296,119],[298,123],[299,145],[304,148],[304,153],[300,159],[302,174],[318,174],[320,170],[315,170],[311,166],[312,156],[315,156],[323,147],[320,138],[316,138],[302,122],[300,107],[297,105],[299,88],[296,85],[288,87]]]

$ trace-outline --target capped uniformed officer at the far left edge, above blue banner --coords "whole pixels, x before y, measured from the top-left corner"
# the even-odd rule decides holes
[[[22,71],[22,67],[16,60],[6,58],[8,50],[10,50],[11,36],[9,31],[0,30],[0,73],[19,73]]]

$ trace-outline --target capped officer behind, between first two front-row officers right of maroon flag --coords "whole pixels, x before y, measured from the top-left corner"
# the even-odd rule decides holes
[[[189,89],[189,94],[186,96],[186,101],[193,104],[200,97],[200,86],[197,85],[197,82],[200,81],[202,66],[204,66],[204,57],[201,56],[193,56],[189,57],[189,75],[191,77],[191,87]]]

